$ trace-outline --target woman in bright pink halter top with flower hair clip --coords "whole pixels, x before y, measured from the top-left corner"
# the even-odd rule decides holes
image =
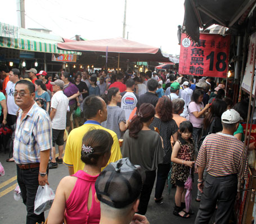
[[[95,181],[111,155],[113,138],[105,130],[91,130],[83,137],[81,159],[84,169],[66,176],[56,190],[48,224],[98,224],[100,203],[95,200]]]

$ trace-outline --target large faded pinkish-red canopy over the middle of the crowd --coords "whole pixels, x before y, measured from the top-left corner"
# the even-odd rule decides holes
[[[160,48],[141,44],[124,38],[84,40],[79,42],[58,43],[58,49],[66,51],[80,51],[120,58],[130,61],[170,62],[168,54],[161,52]]]

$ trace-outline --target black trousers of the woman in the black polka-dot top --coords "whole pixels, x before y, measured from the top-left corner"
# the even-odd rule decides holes
[[[168,173],[170,171],[170,163],[168,164],[158,164],[158,176],[156,177],[155,185],[155,198],[159,199],[162,196],[165,181],[167,179]]]

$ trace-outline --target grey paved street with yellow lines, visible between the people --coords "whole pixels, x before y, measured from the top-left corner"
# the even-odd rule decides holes
[[[7,163],[5,160],[8,154],[0,152],[0,162],[5,167],[5,176],[0,177],[0,223],[25,223],[26,207],[21,200],[14,200],[14,188],[16,186],[16,166],[15,163]],[[52,169],[49,172],[49,182],[53,190],[56,190],[59,181],[62,177],[68,175],[68,168],[64,164],[59,164],[57,169]],[[197,180],[197,176],[195,176]],[[166,223],[194,223],[199,203],[195,202],[196,184],[192,191],[192,209],[195,214],[191,218],[183,219],[173,215],[175,189],[172,189],[170,199],[168,199],[168,189],[164,190],[163,204],[154,202],[154,189],[151,194],[149,207],[146,216],[151,224],[166,224]],[[46,213],[47,216],[48,212]]]

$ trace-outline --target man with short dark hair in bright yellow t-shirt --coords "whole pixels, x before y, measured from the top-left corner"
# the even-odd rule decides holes
[[[118,137],[115,132],[101,126],[101,122],[106,121],[107,119],[107,106],[104,100],[96,95],[89,95],[89,97],[84,100],[83,111],[87,121],[84,125],[72,130],[66,142],[63,163],[69,167],[69,175],[73,175],[78,170],[83,170],[84,168],[84,163],[80,159],[82,139],[86,132],[91,129],[106,130],[113,137],[114,143],[112,145],[111,156],[107,164],[118,161],[118,159],[122,158]]]

